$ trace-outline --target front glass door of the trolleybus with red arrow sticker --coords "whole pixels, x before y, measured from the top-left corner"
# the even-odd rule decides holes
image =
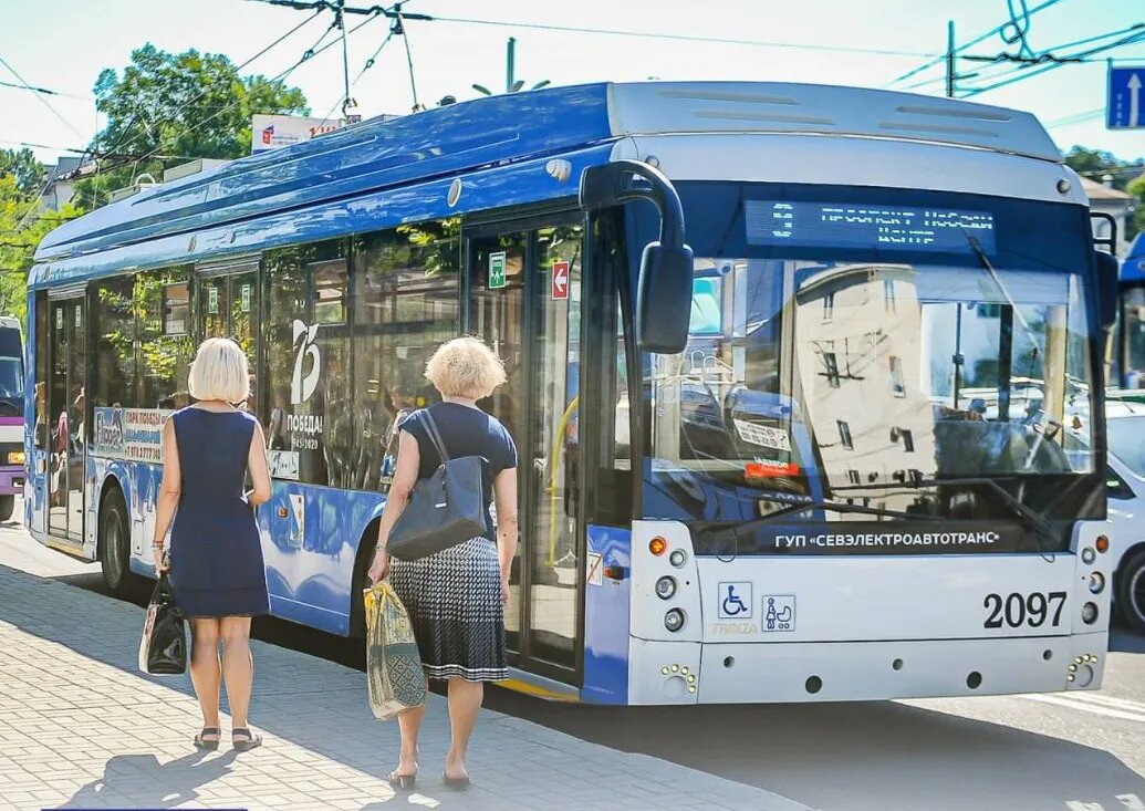
[[[522,669],[578,684],[585,548],[577,490],[583,229],[571,219],[468,236],[467,331],[492,346],[508,376],[481,405],[508,427],[520,457],[521,542],[506,616],[510,648]]]

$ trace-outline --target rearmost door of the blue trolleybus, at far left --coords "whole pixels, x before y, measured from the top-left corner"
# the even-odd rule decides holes
[[[82,543],[87,425],[86,316],[81,296],[49,302],[48,533]]]

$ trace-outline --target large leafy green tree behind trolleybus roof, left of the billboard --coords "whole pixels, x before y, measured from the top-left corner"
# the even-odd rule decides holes
[[[121,74],[104,70],[95,96],[108,126],[92,143],[101,158],[101,176],[77,186],[84,208],[102,205],[108,191],[129,186],[143,173],[158,178],[189,158],[247,155],[251,116],[256,112],[310,112],[300,89],[263,76],[239,76],[221,54],[171,54],[153,45],[132,53]]]

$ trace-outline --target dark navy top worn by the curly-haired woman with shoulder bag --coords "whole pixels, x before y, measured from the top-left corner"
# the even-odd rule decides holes
[[[516,446],[508,431],[496,417],[484,411],[458,403],[434,403],[428,410],[433,415],[445,452],[451,457],[481,456],[487,459],[481,477],[481,493],[485,502],[485,537],[496,541],[492,515],[489,507],[493,501],[493,479],[505,470],[516,467]],[[418,441],[418,479],[428,479],[441,466],[439,456],[425,424],[414,411],[398,426]]]

